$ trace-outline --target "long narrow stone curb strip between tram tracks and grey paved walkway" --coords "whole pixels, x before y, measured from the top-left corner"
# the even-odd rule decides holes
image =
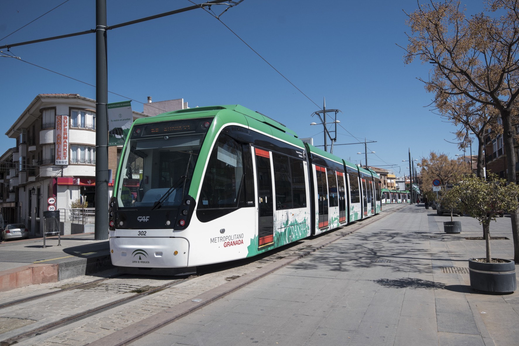
[[[403,206],[407,206],[407,204],[405,204]],[[259,279],[269,275],[270,273],[297,261],[299,258],[303,258],[303,257],[309,255],[310,253],[315,252],[334,241],[344,238],[347,235],[349,235],[353,232],[356,232],[357,230],[359,230],[369,224],[372,224],[375,221],[385,218],[387,215],[393,213],[394,211],[400,210],[400,209],[402,209],[402,208],[394,208],[388,213],[378,214],[378,217],[375,216],[375,217],[371,217],[366,220],[357,221],[356,223],[346,226],[346,228],[348,228],[348,230],[344,230],[343,232],[337,233],[336,235],[334,234],[333,236],[329,236],[329,238],[317,243],[315,246],[313,246],[311,248],[305,249],[304,251],[300,251],[298,254],[290,255],[290,256],[286,256],[284,258],[278,259],[278,261],[276,261],[274,263],[268,264],[260,269],[256,269],[248,274],[245,274],[239,278],[234,279],[233,281],[228,281],[224,284],[221,284],[220,286],[215,287],[214,289],[211,289],[207,292],[204,292],[192,299],[186,300],[167,310],[164,310],[162,312],[158,312],[152,316],[149,316],[140,322],[136,322],[130,326],[117,330],[110,335],[107,335],[99,340],[89,343],[89,345],[91,345],[91,346],[127,345],[135,340],[138,340],[148,334],[153,333],[153,331],[155,331],[171,322],[174,322],[180,318],[183,318],[184,316],[187,316],[188,314],[190,314],[198,309],[201,309],[204,306],[211,304],[213,301],[221,299],[224,296],[226,296],[230,293],[233,293],[256,280],[259,280]],[[343,229],[344,229],[344,227],[343,227]],[[340,231],[340,228],[338,230],[336,230],[335,232],[338,232],[338,231]],[[326,234],[324,234],[324,236],[326,236]],[[194,301],[194,300],[198,300],[198,299],[200,299],[200,300]]]

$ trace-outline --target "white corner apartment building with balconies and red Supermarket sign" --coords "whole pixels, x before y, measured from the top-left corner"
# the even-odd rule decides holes
[[[56,145],[56,116],[70,117],[68,147],[62,146],[63,154],[69,156],[66,165],[56,165],[56,150],[61,150]],[[133,112],[134,119],[142,117],[147,116]],[[31,235],[40,236],[48,197],[56,198],[56,209],[71,208],[81,195],[88,207],[95,207],[95,126],[95,100],[91,98],[39,94],[33,99],[6,132],[16,138],[16,147],[1,156],[0,205],[7,222],[24,223]],[[108,168],[114,174],[118,150],[108,148]],[[109,185],[111,190],[113,182]]]

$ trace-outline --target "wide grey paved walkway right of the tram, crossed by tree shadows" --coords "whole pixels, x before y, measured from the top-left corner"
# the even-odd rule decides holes
[[[519,293],[469,286],[482,228],[445,234],[435,210],[405,206],[132,345],[517,345]],[[511,238],[510,219],[490,225]],[[491,242],[512,258],[512,240]]]

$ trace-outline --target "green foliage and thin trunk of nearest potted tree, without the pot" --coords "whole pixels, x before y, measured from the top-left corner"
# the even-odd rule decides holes
[[[490,221],[496,221],[498,212],[512,212],[519,202],[519,185],[507,185],[506,179],[491,174],[488,181],[467,176],[447,195],[459,200],[458,207],[470,217],[477,219],[483,226],[486,240],[486,262],[491,263],[490,255]],[[443,198],[442,198],[443,203]]]

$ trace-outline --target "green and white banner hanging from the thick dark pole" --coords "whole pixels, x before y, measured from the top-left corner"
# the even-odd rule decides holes
[[[109,103],[108,107],[108,146],[122,146],[133,123],[131,101]]]

